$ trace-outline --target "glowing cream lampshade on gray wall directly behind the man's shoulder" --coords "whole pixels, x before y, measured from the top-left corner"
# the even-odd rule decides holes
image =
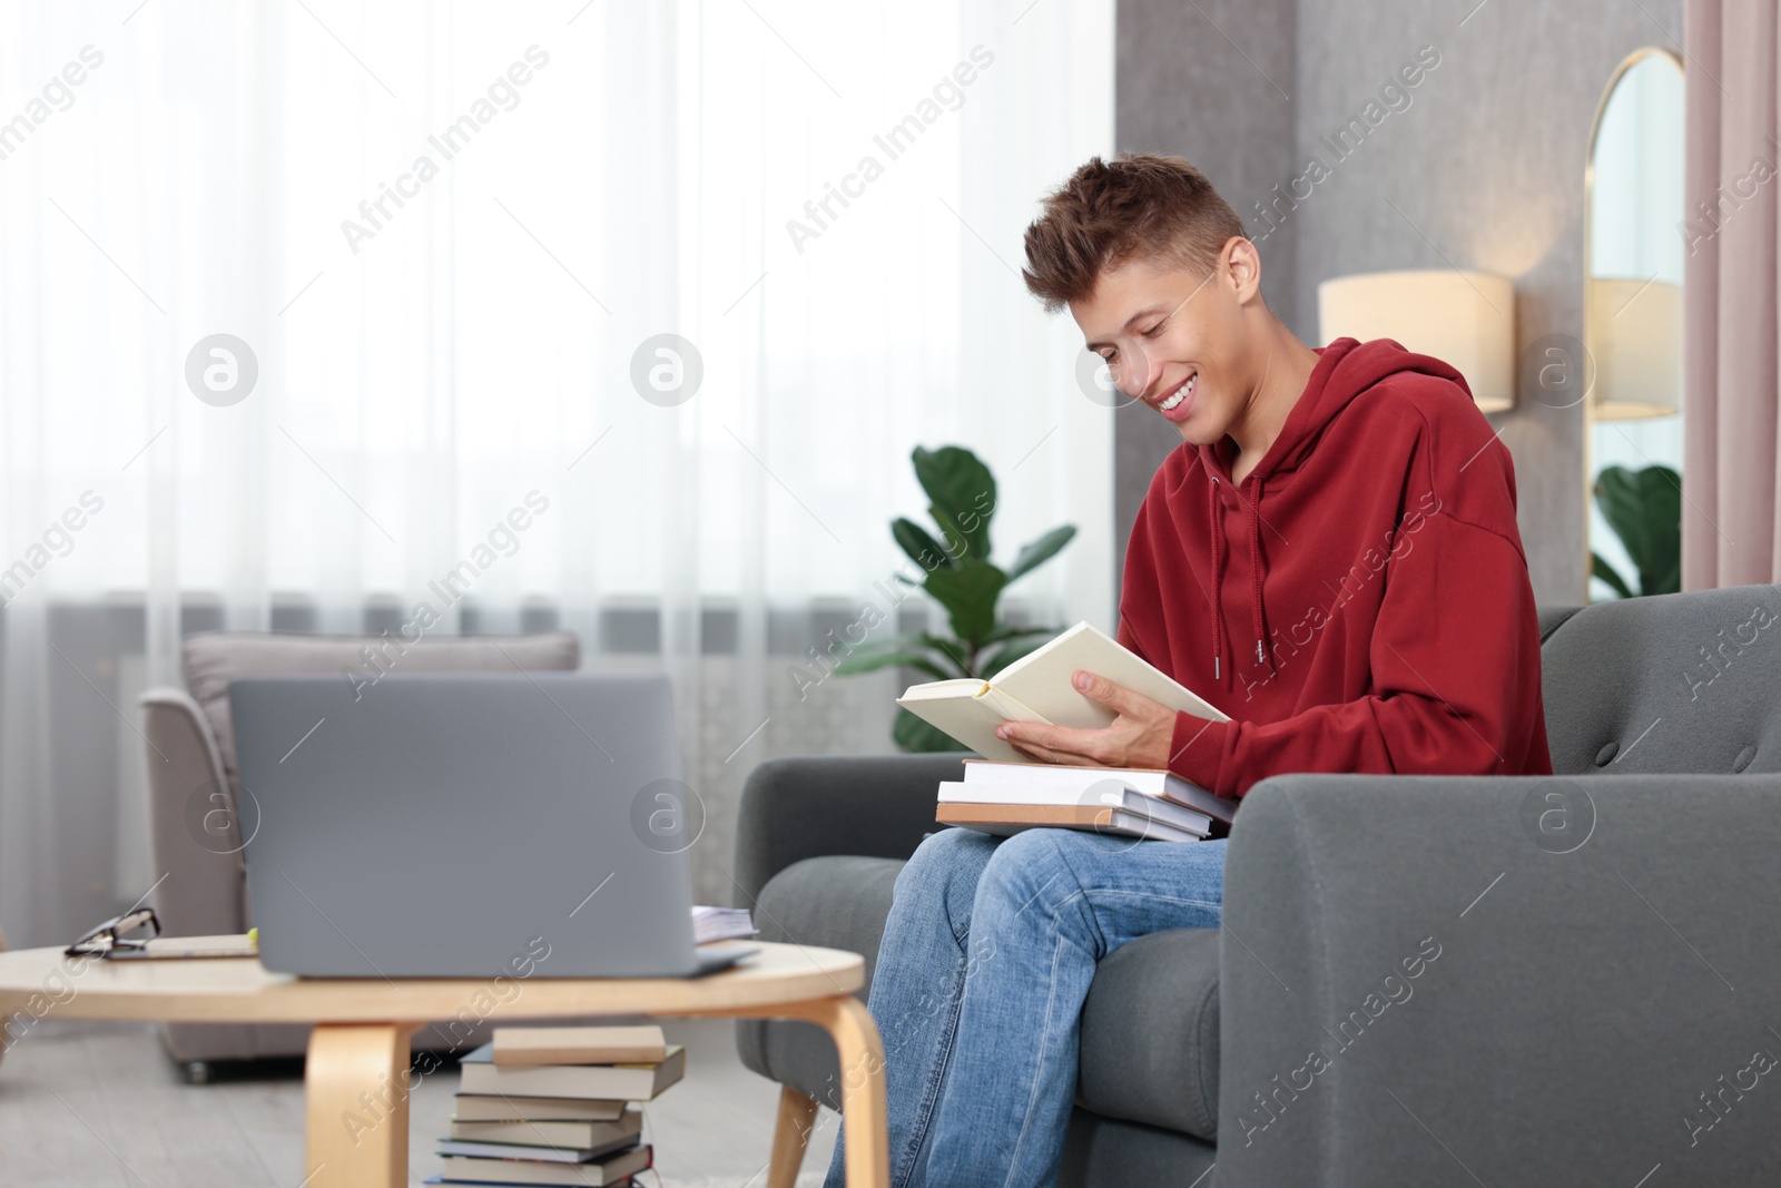
[[[1395,338],[1466,376],[1487,413],[1516,404],[1516,281],[1496,273],[1428,269],[1339,276],[1318,285],[1318,333]]]

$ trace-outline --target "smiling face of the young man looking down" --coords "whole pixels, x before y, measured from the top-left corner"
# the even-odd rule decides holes
[[[1248,251],[1232,253],[1238,244]],[[1254,258],[1254,248],[1231,240],[1202,274],[1131,260],[1102,273],[1094,292],[1070,305],[1118,390],[1154,408],[1193,445],[1222,440],[1241,411],[1245,255]]]

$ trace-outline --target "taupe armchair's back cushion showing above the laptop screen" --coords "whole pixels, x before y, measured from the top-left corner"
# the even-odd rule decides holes
[[[538,636],[452,636],[403,643],[381,636],[297,636],[283,632],[212,631],[185,638],[185,688],[205,712],[223,757],[223,775],[240,794],[235,766],[235,730],[228,716],[228,686],[240,677],[340,675],[372,680],[378,670],[365,648],[395,673],[573,670],[581,641],[573,632]]]

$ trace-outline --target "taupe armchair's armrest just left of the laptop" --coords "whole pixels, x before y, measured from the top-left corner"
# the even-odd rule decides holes
[[[235,794],[198,702],[183,689],[142,693],[155,914],[169,937],[248,932],[248,876]],[[253,814],[249,814],[249,826]]]

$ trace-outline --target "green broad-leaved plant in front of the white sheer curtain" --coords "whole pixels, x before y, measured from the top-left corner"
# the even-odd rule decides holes
[[[1003,590],[1069,545],[1076,525],[1063,524],[1028,541],[1004,570],[990,561],[990,520],[996,515],[996,476],[990,468],[962,445],[933,451],[917,445],[910,460],[939,533],[905,517],[890,522],[890,538],[926,572],[919,582],[903,574],[896,579],[926,590],[946,609],[951,634],[919,632],[867,643],[834,671],[846,675],[905,666],[935,680],[992,677],[1063,631],[1015,627],[1003,622],[997,607]],[[907,752],[967,750],[901,705],[890,737]]]

